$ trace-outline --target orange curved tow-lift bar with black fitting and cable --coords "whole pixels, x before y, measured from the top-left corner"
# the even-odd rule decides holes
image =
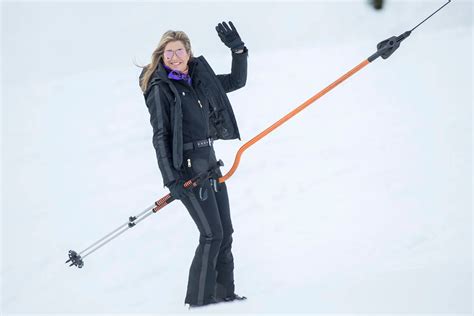
[[[225,175],[223,175],[222,177],[220,177],[218,179],[219,183],[225,182],[227,179],[229,179],[234,174],[237,167],[239,166],[240,157],[242,156],[244,151],[246,151],[250,146],[255,144],[257,141],[259,141],[260,139],[262,139],[266,135],[268,135],[270,132],[272,132],[277,127],[279,127],[280,125],[282,125],[283,123],[285,123],[286,121],[291,119],[293,116],[295,116],[299,112],[301,112],[303,109],[308,107],[311,103],[313,103],[314,101],[316,101],[317,99],[321,98],[323,95],[325,95],[326,93],[328,93],[329,91],[334,89],[336,86],[338,86],[340,83],[345,81],[347,78],[351,77],[353,74],[355,74],[356,72],[358,72],[359,70],[361,70],[362,68],[367,66],[369,63],[373,62],[378,57],[382,57],[383,59],[387,59],[388,57],[390,57],[390,55],[392,55],[398,49],[398,47],[400,46],[400,43],[404,39],[406,39],[408,36],[410,36],[411,32],[413,32],[418,26],[423,24],[426,20],[431,18],[436,12],[438,12],[439,10],[444,8],[450,2],[451,2],[451,0],[446,2],[438,10],[433,12],[430,16],[428,16],[426,19],[421,21],[417,26],[415,26],[411,30],[406,31],[405,33],[403,33],[399,36],[392,36],[392,37],[378,43],[377,44],[377,51],[374,54],[372,54],[370,57],[368,57],[367,59],[362,61],[360,64],[358,64],[357,66],[355,66],[354,68],[349,70],[347,73],[345,73],[344,75],[339,77],[336,81],[334,81],[333,83],[328,85],[326,88],[324,88],[323,90],[321,90],[320,92],[318,92],[317,94],[315,94],[314,96],[312,96],[311,98],[306,100],[304,103],[302,103],[300,106],[295,108],[293,111],[291,111],[290,113],[288,113],[287,115],[285,115],[284,117],[279,119],[277,122],[272,124],[270,127],[266,128],[260,134],[258,134],[257,136],[255,136],[254,138],[252,138],[251,140],[246,142],[244,145],[242,145],[242,147],[240,147],[240,149],[238,150],[237,155],[235,156],[235,160],[234,160],[234,163],[233,163],[231,169],[229,170],[229,172],[227,172]]]

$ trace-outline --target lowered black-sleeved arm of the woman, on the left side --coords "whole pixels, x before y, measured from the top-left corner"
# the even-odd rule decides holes
[[[158,84],[151,87],[146,96],[146,105],[153,127],[153,146],[158,159],[158,167],[163,177],[163,184],[167,186],[170,182],[180,179],[180,174],[173,167],[170,104],[161,89]]]

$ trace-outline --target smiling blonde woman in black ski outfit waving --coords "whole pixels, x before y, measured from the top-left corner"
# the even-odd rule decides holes
[[[183,187],[215,165],[214,140],[240,139],[226,93],[245,85],[248,50],[232,22],[229,25],[219,23],[216,30],[232,51],[230,74],[216,75],[203,56],[194,57],[184,32],[167,31],[140,75],[163,183],[200,232],[185,298],[190,307],[245,299],[234,292],[233,228],[225,183]],[[219,169],[217,174],[222,176]]]

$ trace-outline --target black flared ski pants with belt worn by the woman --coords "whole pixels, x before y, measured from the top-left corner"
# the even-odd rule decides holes
[[[186,180],[208,170],[216,163],[213,147],[185,151]],[[220,170],[217,174],[222,176]],[[199,230],[199,245],[189,270],[185,304],[206,305],[214,298],[234,294],[234,258],[232,221],[225,183],[210,181],[193,188],[181,199]]]

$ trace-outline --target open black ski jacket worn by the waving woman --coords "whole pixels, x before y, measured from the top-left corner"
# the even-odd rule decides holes
[[[182,178],[183,142],[207,137],[240,139],[226,93],[245,86],[247,57],[247,48],[243,53],[232,53],[231,73],[225,75],[216,75],[203,56],[191,58],[188,62],[191,86],[169,79],[163,64],[157,67],[144,97],[164,185]],[[140,78],[144,72],[145,69]]]

